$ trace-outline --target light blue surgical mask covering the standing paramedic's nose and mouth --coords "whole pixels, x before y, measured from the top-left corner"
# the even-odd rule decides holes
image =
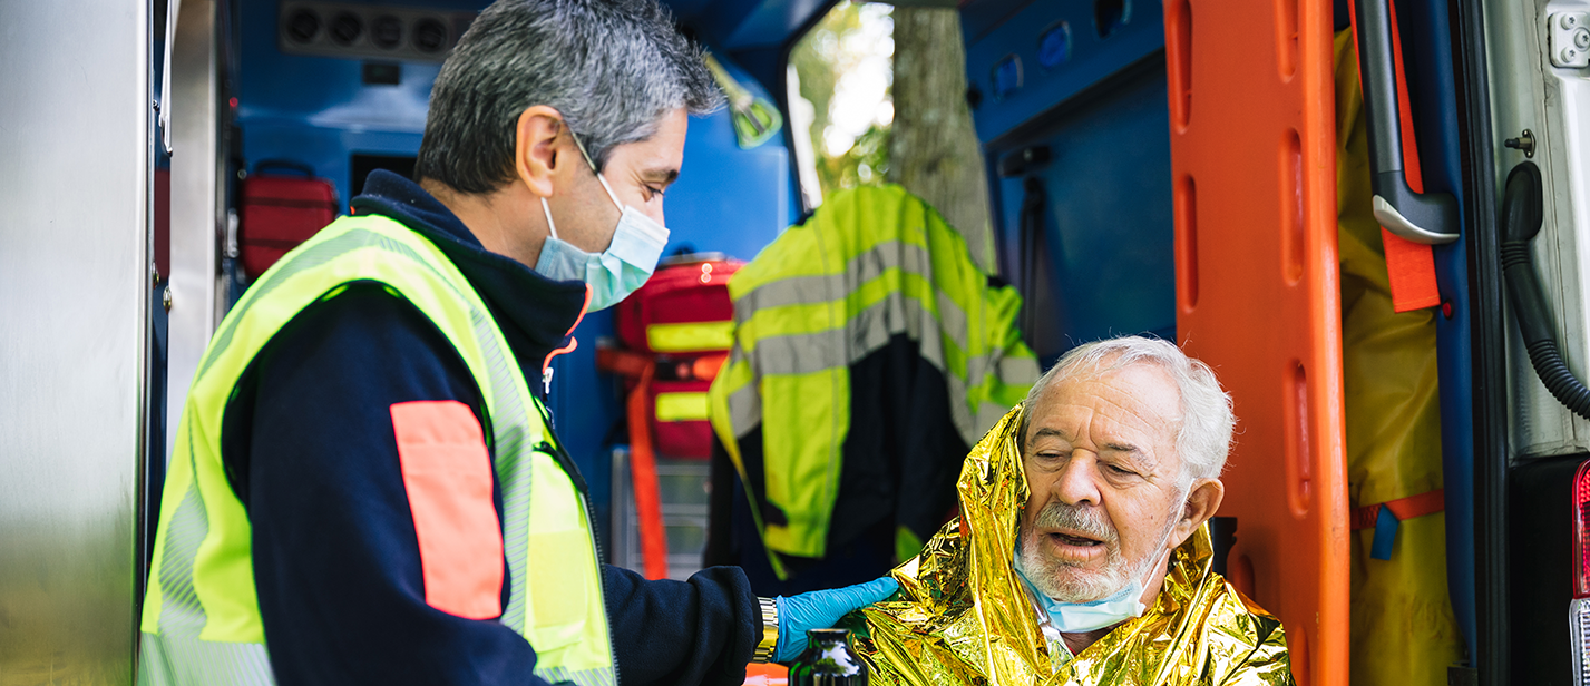
[[[569,132],[572,137],[574,132]],[[596,172],[596,164],[585,154],[585,146],[574,138],[585,164]],[[590,286],[590,311],[604,310],[623,300],[631,292],[646,284],[657,268],[657,260],[668,245],[668,229],[642,214],[639,210],[619,202],[619,195],[607,186],[607,179],[596,172],[596,179],[607,191],[607,197],[619,206],[619,229],[612,233],[612,243],[601,254],[585,252],[571,243],[558,238],[558,227],[552,222],[552,208],[547,198],[541,198],[541,211],[547,214],[547,230],[552,232],[541,246],[541,259],[536,260],[536,272],[556,281],[585,281]]]

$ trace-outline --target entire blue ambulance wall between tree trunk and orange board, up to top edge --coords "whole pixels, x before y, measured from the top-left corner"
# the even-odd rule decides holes
[[[1037,313],[1026,335],[1045,364],[1110,335],[1175,338],[1162,21],[1158,2],[1127,2],[1123,22],[1100,37],[1092,2],[981,0],[962,10],[967,81],[981,95],[973,121],[1011,283],[1024,281],[1027,262],[1024,178],[1037,176],[1046,197],[1043,252],[1026,294]],[[1040,60],[1051,30],[1068,30],[1057,62]],[[995,70],[1013,60],[1019,86],[999,91]],[[1002,156],[1040,145],[1053,154],[1046,165],[1013,178],[995,173]]]

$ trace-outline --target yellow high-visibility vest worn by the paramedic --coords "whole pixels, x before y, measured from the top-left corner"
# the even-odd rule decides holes
[[[385,216],[342,218],[261,275],[221,322],[176,427],[143,603],[143,684],[269,684],[248,513],[226,480],[221,414],[256,354],[304,308],[377,281],[447,337],[480,387],[502,488],[509,602],[501,622],[547,681],[615,683],[590,513],[552,454],[541,402],[463,273]],[[534,565],[526,561],[537,561]],[[549,568],[547,561],[558,561]]]

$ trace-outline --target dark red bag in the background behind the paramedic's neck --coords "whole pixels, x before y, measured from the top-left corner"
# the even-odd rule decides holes
[[[283,254],[337,218],[335,189],[331,181],[316,178],[308,165],[264,160],[240,186],[237,243],[250,278],[266,273]]]

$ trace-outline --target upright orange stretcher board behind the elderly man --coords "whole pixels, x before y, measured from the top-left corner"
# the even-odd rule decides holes
[[[1167,0],[1177,333],[1231,391],[1231,578],[1302,686],[1348,683],[1336,129],[1326,0]]]

